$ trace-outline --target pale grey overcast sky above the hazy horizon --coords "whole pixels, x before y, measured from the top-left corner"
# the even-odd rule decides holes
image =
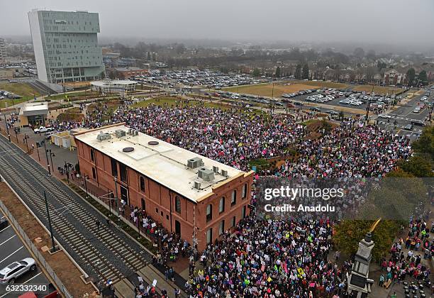
[[[0,0],[0,36],[31,9],[98,12],[101,37],[434,45],[433,0]]]

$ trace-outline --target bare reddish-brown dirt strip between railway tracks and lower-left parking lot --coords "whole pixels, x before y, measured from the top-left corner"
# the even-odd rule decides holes
[[[33,240],[33,244],[40,249],[40,253],[62,280],[68,291],[74,297],[83,297],[86,293],[89,294],[89,297],[96,297],[94,287],[90,284],[84,284],[80,278],[82,273],[63,251],[50,255],[48,251],[42,249],[44,246],[51,247],[50,236],[5,183],[0,183],[0,198],[27,236]]]

